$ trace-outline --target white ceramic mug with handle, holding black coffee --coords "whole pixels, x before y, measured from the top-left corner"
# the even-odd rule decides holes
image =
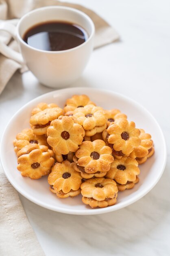
[[[31,47],[22,39],[32,26],[46,21],[66,21],[83,27],[87,40],[77,47],[63,51],[44,51]],[[25,14],[17,26],[2,23],[0,30],[8,31],[17,40],[21,53],[0,43],[1,52],[19,63],[26,63],[40,83],[57,88],[74,82],[83,72],[93,50],[94,23],[85,13],[70,7],[42,7]]]

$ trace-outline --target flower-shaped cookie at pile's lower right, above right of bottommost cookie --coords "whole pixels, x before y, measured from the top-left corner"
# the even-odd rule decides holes
[[[106,177],[123,185],[127,182],[134,182],[136,180],[136,175],[140,173],[137,166],[137,161],[131,157],[114,159],[114,162],[111,164],[111,168],[107,172]]]

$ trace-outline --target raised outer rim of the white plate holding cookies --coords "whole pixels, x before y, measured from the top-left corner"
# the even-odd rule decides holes
[[[37,201],[36,199],[34,199],[32,196],[30,196],[27,192],[25,191],[21,191],[20,188],[18,189],[17,186],[15,186],[15,182],[13,182],[13,180],[11,180],[11,178],[8,175],[8,172],[5,170],[5,164],[4,164],[4,160],[3,160],[3,140],[4,140],[4,135],[7,131],[7,128],[9,127],[11,121],[13,119],[15,119],[15,116],[18,115],[19,112],[22,112],[23,108],[26,108],[27,106],[29,106],[31,103],[33,103],[33,101],[37,101],[39,98],[41,98],[42,96],[48,96],[50,94],[57,94],[60,92],[64,92],[64,91],[69,91],[69,90],[91,90],[91,91],[100,91],[100,92],[106,92],[106,93],[111,93],[113,95],[115,95],[116,97],[120,97],[122,99],[125,99],[126,101],[132,102],[134,103],[136,106],[138,106],[139,108],[141,108],[142,110],[144,110],[145,112],[147,112],[148,115],[150,115],[150,117],[152,117],[152,119],[155,121],[155,123],[157,124],[157,128],[159,128],[159,132],[161,134],[161,139],[163,141],[163,151],[164,151],[164,158],[163,158],[163,164],[161,167],[161,170],[159,172],[159,175],[157,177],[157,179],[155,180],[155,182],[153,182],[151,184],[151,186],[148,187],[148,189],[146,189],[144,192],[141,191],[139,194],[135,195],[134,198],[130,198],[129,200],[126,200],[125,202],[120,202],[119,204],[115,204],[113,206],[110,207],[105,207],[105,208],[97,208],[97,209],[87,209],[87,210],[74,210],[74,209],[62,209],[61,207],[56,207],[56,206],[50,206],[48,204],[46,204],[46,202],[39,202],[39,200]],[[82,93],[82,92],[77,92],[77,94]],[[133,204],[134,202],[136,202],[137,200],[139,200],[140,198],[144,197],[151,189],[153,189],[153,187],[157,184],[157,182],[159,181],[159,179],[161,178],[163,171],[165,169],[166,166],[166,161],[167,161],[167,148],[166,148],[166,141],[165,141],[165,137],[163,135],[163,131],[161,130],[161,127],[159,126],[159,123],[157,122],[157,120],[155,119],[155,117],[145,108],[143,107],[140,103],[138,103],[137,101],[135,101],[134,99],[131,99],[130,97],[127,97],[123,94],[120,94],[118,92],[114,92],[111,90],[105,90],[105,89],[100,89],[100,88],[91,88],[91,87],[72,87],[72,88],[63,88],[60,90],[54,90],[51,92],[47,92],[45,94],[41,94],[38,97],[35,97],[34,99],[32,99],[31,101],[28,101],[26,104],[24,104],[24,106],[22,106],[19,110],[17,110],[17,112],[11,117],[11,119],[9,120],[8,124],[6,125],[3,133],[2,133],[2,137],[1,137],[1,141],[0,141],[0,160],[1,160],[1,164],[2,164],[2,168],[4,170],[4,173],[7,177],[7,179],[9,180],[9,182],[12,184],[12,186],[21,194],[23,195],[25,198],[27,198],[28,200],[30,200],[31,202],[44,207],[46,209],[52,210],[52,211],[57,211],[60,213],[67,213],[67,214],[74,214],[74,215],[94,215],[94,214],[102,214],[102,213],[108,213],[111,211],[116,211],[119,209],[122,209],[128,205]],[[122,205],[123,204],[123,205]]]

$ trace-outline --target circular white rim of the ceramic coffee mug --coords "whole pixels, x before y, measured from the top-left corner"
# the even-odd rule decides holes
[[[73,48],[70,48],[70,49],[66,49],[66,50],[60,50],[60,51],[47,51],[47,50],[41,50],[41,49],[37,49],[35,47],[32,47],[30,45],[28,45],[23,39],[22,37],[20,36],[20,33],[19,33],[19,27],[22,23],[22,21],[24,20],[24,18],[26,18],[26,16],[32,14],[32,13],[35,13],[35,12],[38,12],[42,9],[65,9],[65,10],[69,10],[69,11],[73,11],[73,12],[76,12],[76,13],[79,13],[81,14],[81,16],[84,16],[84,18],[86,18],[88,20],[88,22],[90,23],[91,25],[91,28],[92,28],[92,32],[91,34],[89,35],[89,37],[87,38],[87,40],[82,43],[81,45],[78,45],[76,47],[73,47]],[[38,24],[38,23],[37,23]],[[94,33],[95,33],[95,26],[94,26],[94,22],[92,21],[92,19],[86,14],[84,13],[83,11],[79,11],[78,9],[75,9],[75,8],[72,8],[72,7],[66,7],[66,6],[56,6],[56,5],[50,5],[50,6],[45,6],[45,7],[40,7],[40,8],[37,8],[37,9],[34,9],[32,11],[29,11],[28,13],[26,13],[24,16],[22,16],[22,18],[19,20],[19,22],[17,23],[17,27],[16,27],[16,37],[20,40],[20,43],[24,44],[26,47],[32,49],[32,50],[35,50],[35,51],[38,51],[38,52],[45,52],[45,53],[48,53],[48,54],[56,54],[56,53],[66,53],[66,52],[72,52],[74,51],[75,49],[78,49],[80,47],[82,47],[83,45],[87,44],[89,42],[89,40],[92,39],[92,37],[94,36]]]

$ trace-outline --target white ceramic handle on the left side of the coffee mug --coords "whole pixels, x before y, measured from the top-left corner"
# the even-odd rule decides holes
[[[13,39],[16,39],[16,27],[11,23],[2,22],[0,23],[0,30],[8,32]],[[24,64],[24,59],[22,54],[16,52],[15,50],[11,49],[5,43],[0,41],[0,53],[2,53],[5,57],[11,58],[14,61],[17,61],[20,64]]]

